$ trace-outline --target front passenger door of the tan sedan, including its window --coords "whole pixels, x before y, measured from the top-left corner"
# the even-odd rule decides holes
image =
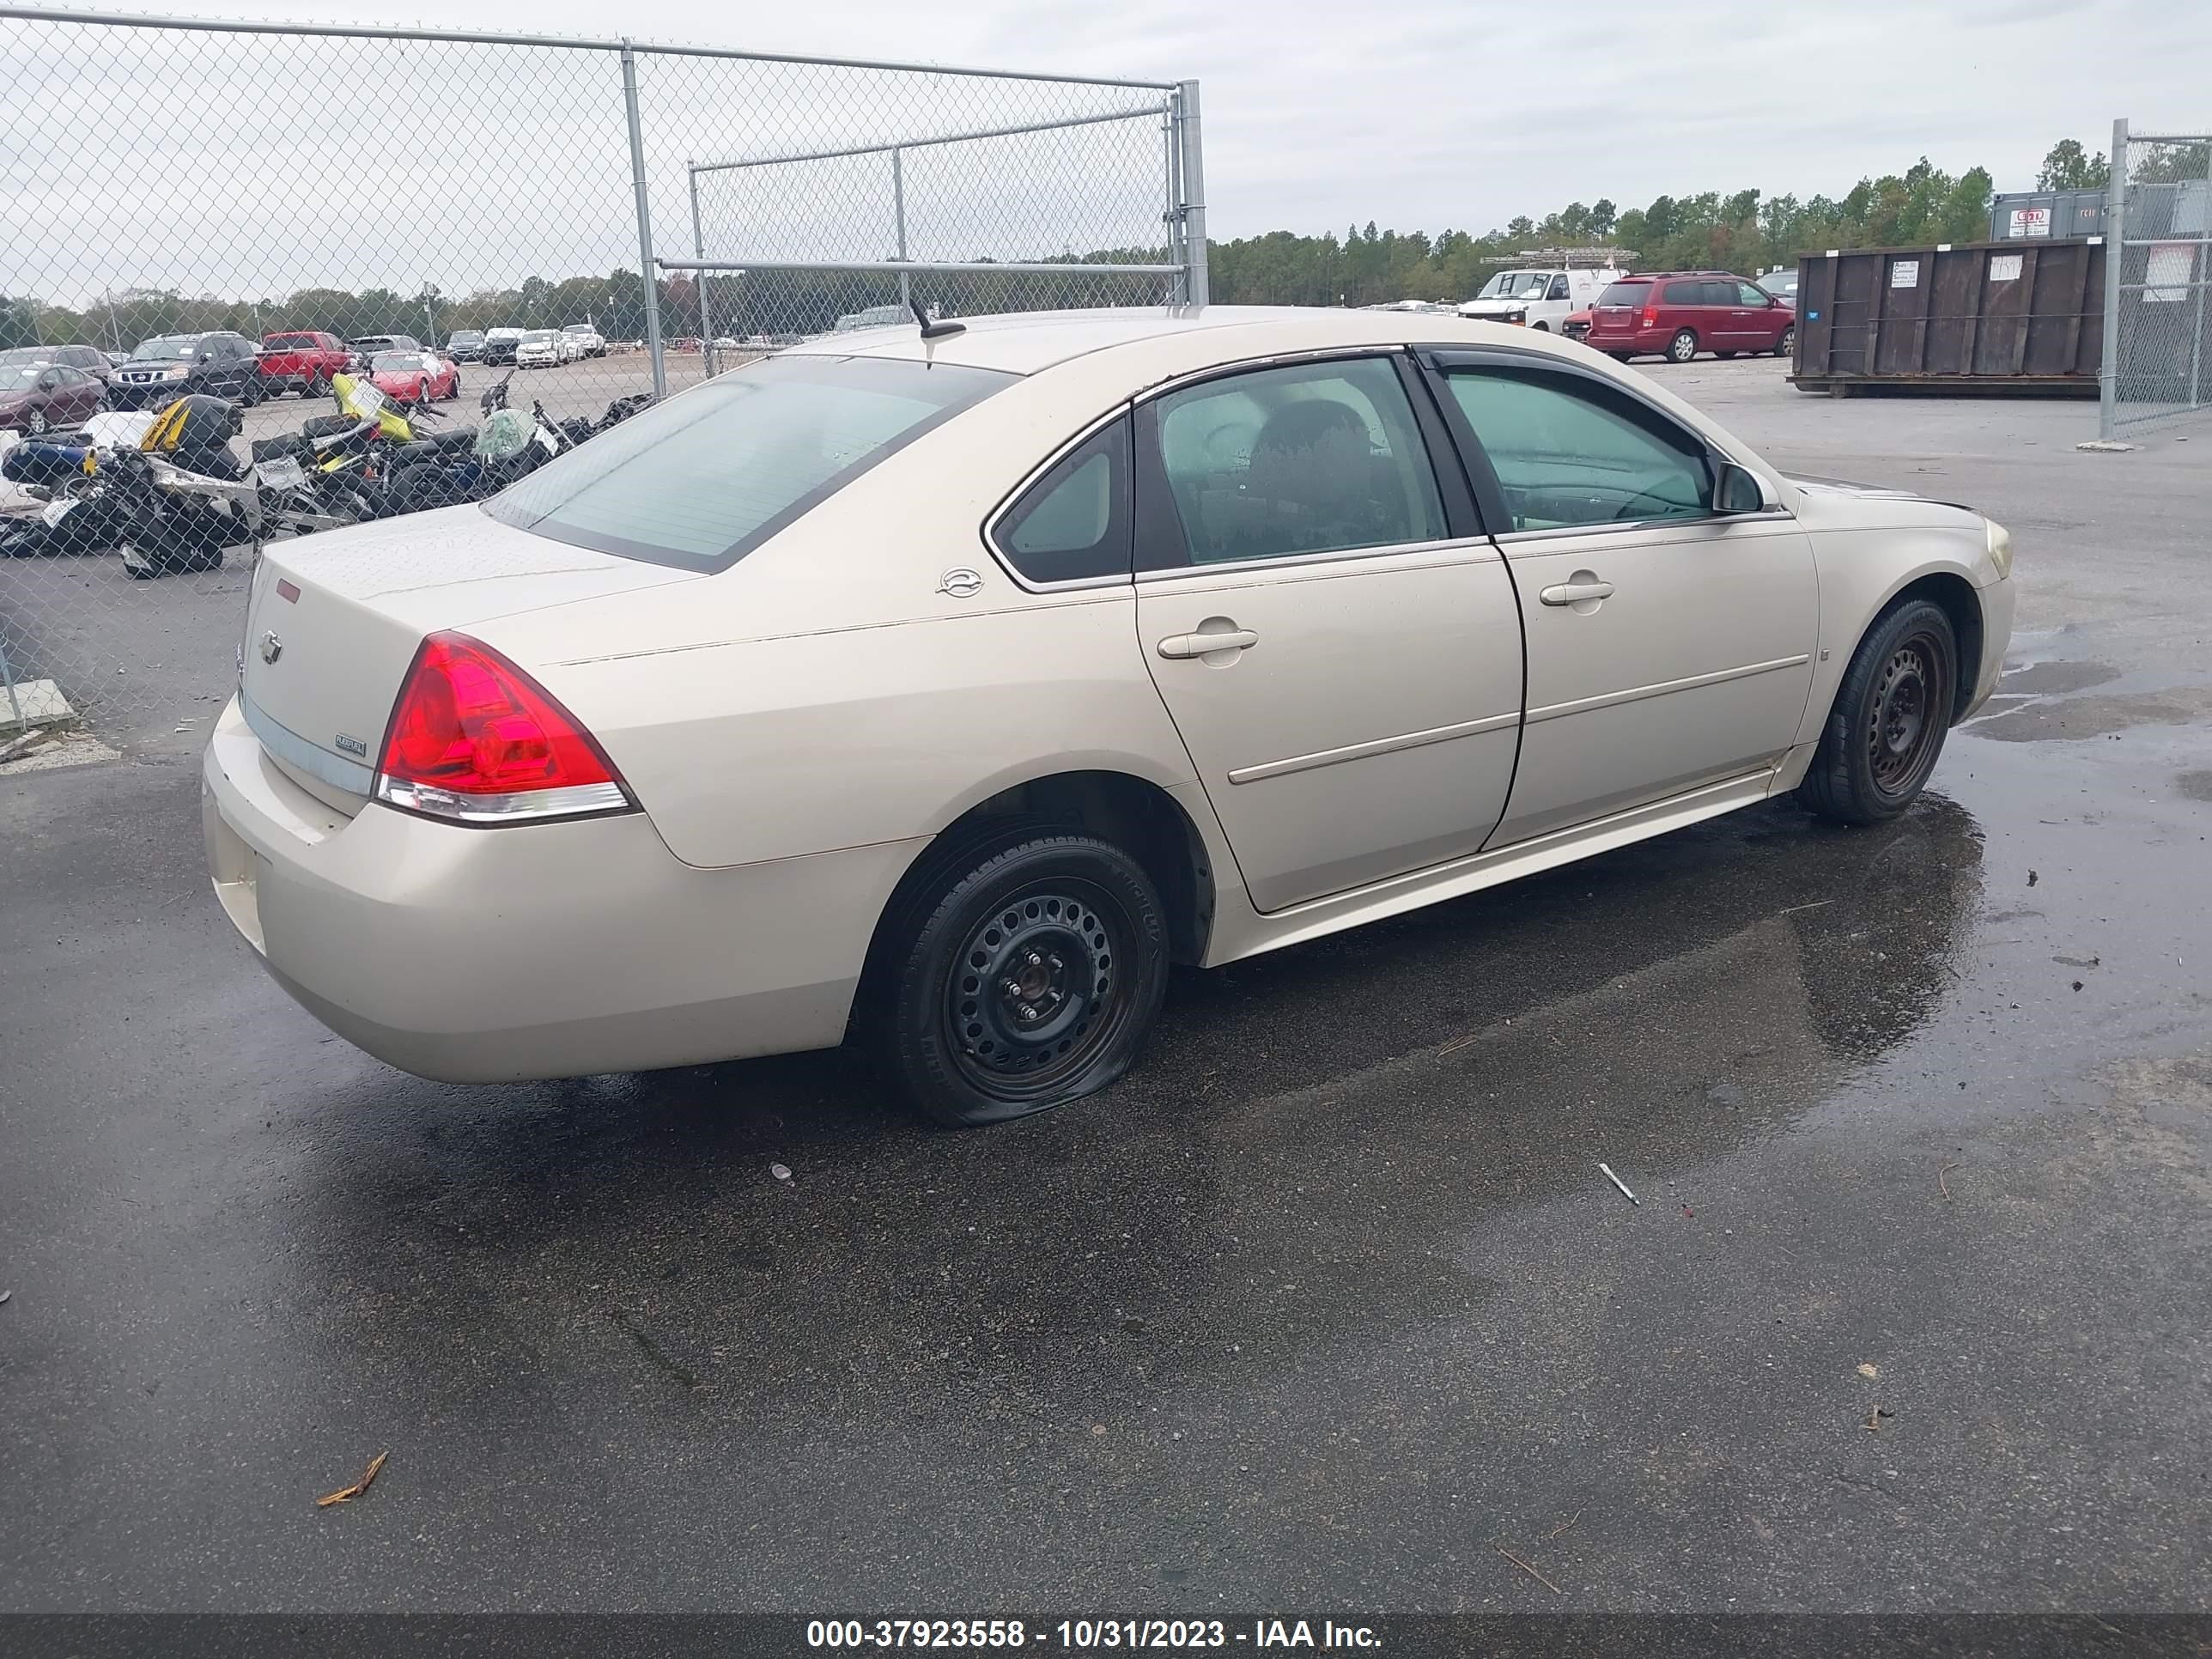
[[[1528,637],[1511,845],[1774,765],[1812,688],[1812,542],[1778,509],[1714,511],[1714,456],[1595,372],[1433,358],[1495,489]]]

